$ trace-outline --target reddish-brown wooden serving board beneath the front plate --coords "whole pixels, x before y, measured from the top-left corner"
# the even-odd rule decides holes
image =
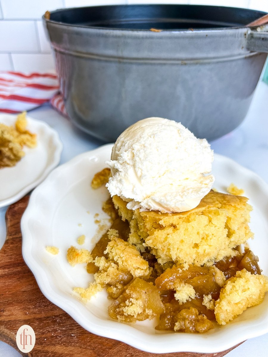
[[[0,340],[18,350],[19,327],[31,326],[36,336],[35,346],[22,355],[33,357],[222,357],[237,347],[219,353],[154,354],[84,330],[46,299],[23,260],[20,219],[28,201],[26,196],[6,212],[7,238],[0,251]]]

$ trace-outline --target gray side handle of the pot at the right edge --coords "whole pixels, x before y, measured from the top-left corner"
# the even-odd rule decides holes
[[[268,52],[268,26],[250,29],[247,36],[247,50],[253,52]]]

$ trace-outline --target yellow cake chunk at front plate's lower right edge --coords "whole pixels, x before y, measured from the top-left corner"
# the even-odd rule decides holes
[[[225,325],[240,315],[248,307],[263,301],[268,291],[268,278],[264,275],[251,274],[243,269],[230,278],[220,291],[215,302],[215,316],[220,325]]]

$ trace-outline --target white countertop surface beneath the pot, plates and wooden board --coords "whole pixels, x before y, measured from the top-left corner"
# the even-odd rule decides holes
[[[257,173],[268,183],[268,85],[260,82],[255,91],[252,104],[243,123],[230,134],[212,141],[211,147],[217,154],[225,155],[240,165]],[[84,134],[71,125],[70,121],[49,106],[43,106],[29,113],[29,116],[43,120],[58,131],[63,142],[60,164],[74,156],[102,145],[99,140]],[[0,208],[0,248],[6,237],[5,212]],[[19,328],[20,326],[18,326]],[[36,336],[38,338],[38,336]],[[268,334],[244,342],[228,357],[266,357],[268,356]],[[12,347],[0,341],[0,356],[21,356]],[[79,357],[79,356],[78,356]]]

